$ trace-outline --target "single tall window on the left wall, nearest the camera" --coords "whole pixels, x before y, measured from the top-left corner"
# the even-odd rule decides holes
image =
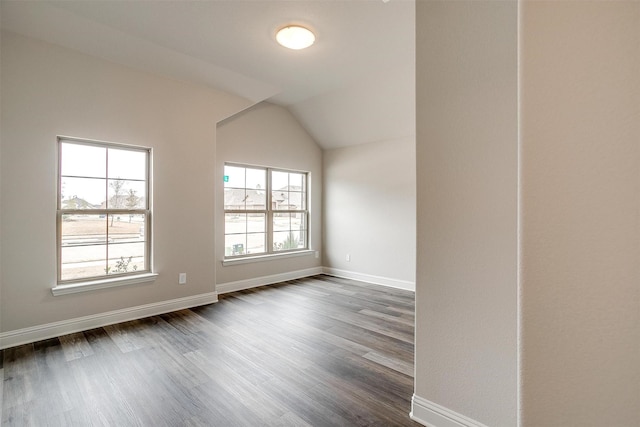
[[[58,138],[58,283],[150,272],[150,149]]]

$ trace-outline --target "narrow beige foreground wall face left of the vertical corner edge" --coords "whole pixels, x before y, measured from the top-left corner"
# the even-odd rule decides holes
[[[517,3],[418,1],[416,19],[413,415],[514,426]]]

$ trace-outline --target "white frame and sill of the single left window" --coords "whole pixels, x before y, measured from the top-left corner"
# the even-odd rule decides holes
[[[145,156],[145,207],[140,209],[64,209],[62,207],[62,144],[71,143],[77,145],[94,146],[101,148],[114,148],[128,151],[144,152]],[[104,289],[115,286],[129,285],[134,283],[150,282],[154,281],[157,274],[153,272],[153,251],[152,251],[152,149],[150,147],[144,147],[140,145],[122,144],[117,142],[100,141],[86,138],[77,138],[70,136],[59,135],[57,137],[57,189],[56,189],[56,284],[52,288],[54,296],[64,295],[69,293],[84,292],[93,289]],[[108,158],[107,158],[108,168]],[[107,169],[108,170],[108,169]],[[110,177],[105,177],[108,183]],[[108,192],[107,192],[108,195]],[[79,279],[62,280],[62,216],[74,215],[74,214],[94,214],[105,215],[106,221],[110,215],[144,215],[145,217],[145,246],[144,246],[144,268],[141,270],[118,273],[118,274],[104,274],[100,276],[83,277]],[[108,244],[107,244],[108,246]]]

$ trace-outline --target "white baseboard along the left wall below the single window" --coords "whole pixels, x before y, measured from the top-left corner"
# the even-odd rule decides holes
[[[127,322],[129,320],[142,319],[156,316],[171,311],[218,302],[216,292],[177,298],[169,301],[139,305],[121,310],[108,311],[106,313],[91,316],[78,317],[60,322],[47,323],[45,325],[32,326],[30,328],[0,333],[0,349],[15,347],[17,345],[59,337],[74,332],[86,331],[112,325],[114,323]]]

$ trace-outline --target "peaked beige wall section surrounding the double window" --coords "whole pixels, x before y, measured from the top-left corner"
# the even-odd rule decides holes
[[[216,284],[230,286],[256,278],[284,277],[292,271],[320,268],[315,254],[248,264],[222,265],[224,259],[224,163],[268,166],[309,172],[309,247],[322,251],[322,151],[291,113],[262,102],[218,125],[216,186]],[[257,284],[251,282],[252,286]],[[240,286],[242,287],[242,286]],[[233,286],[231,287],[233,288]]]

